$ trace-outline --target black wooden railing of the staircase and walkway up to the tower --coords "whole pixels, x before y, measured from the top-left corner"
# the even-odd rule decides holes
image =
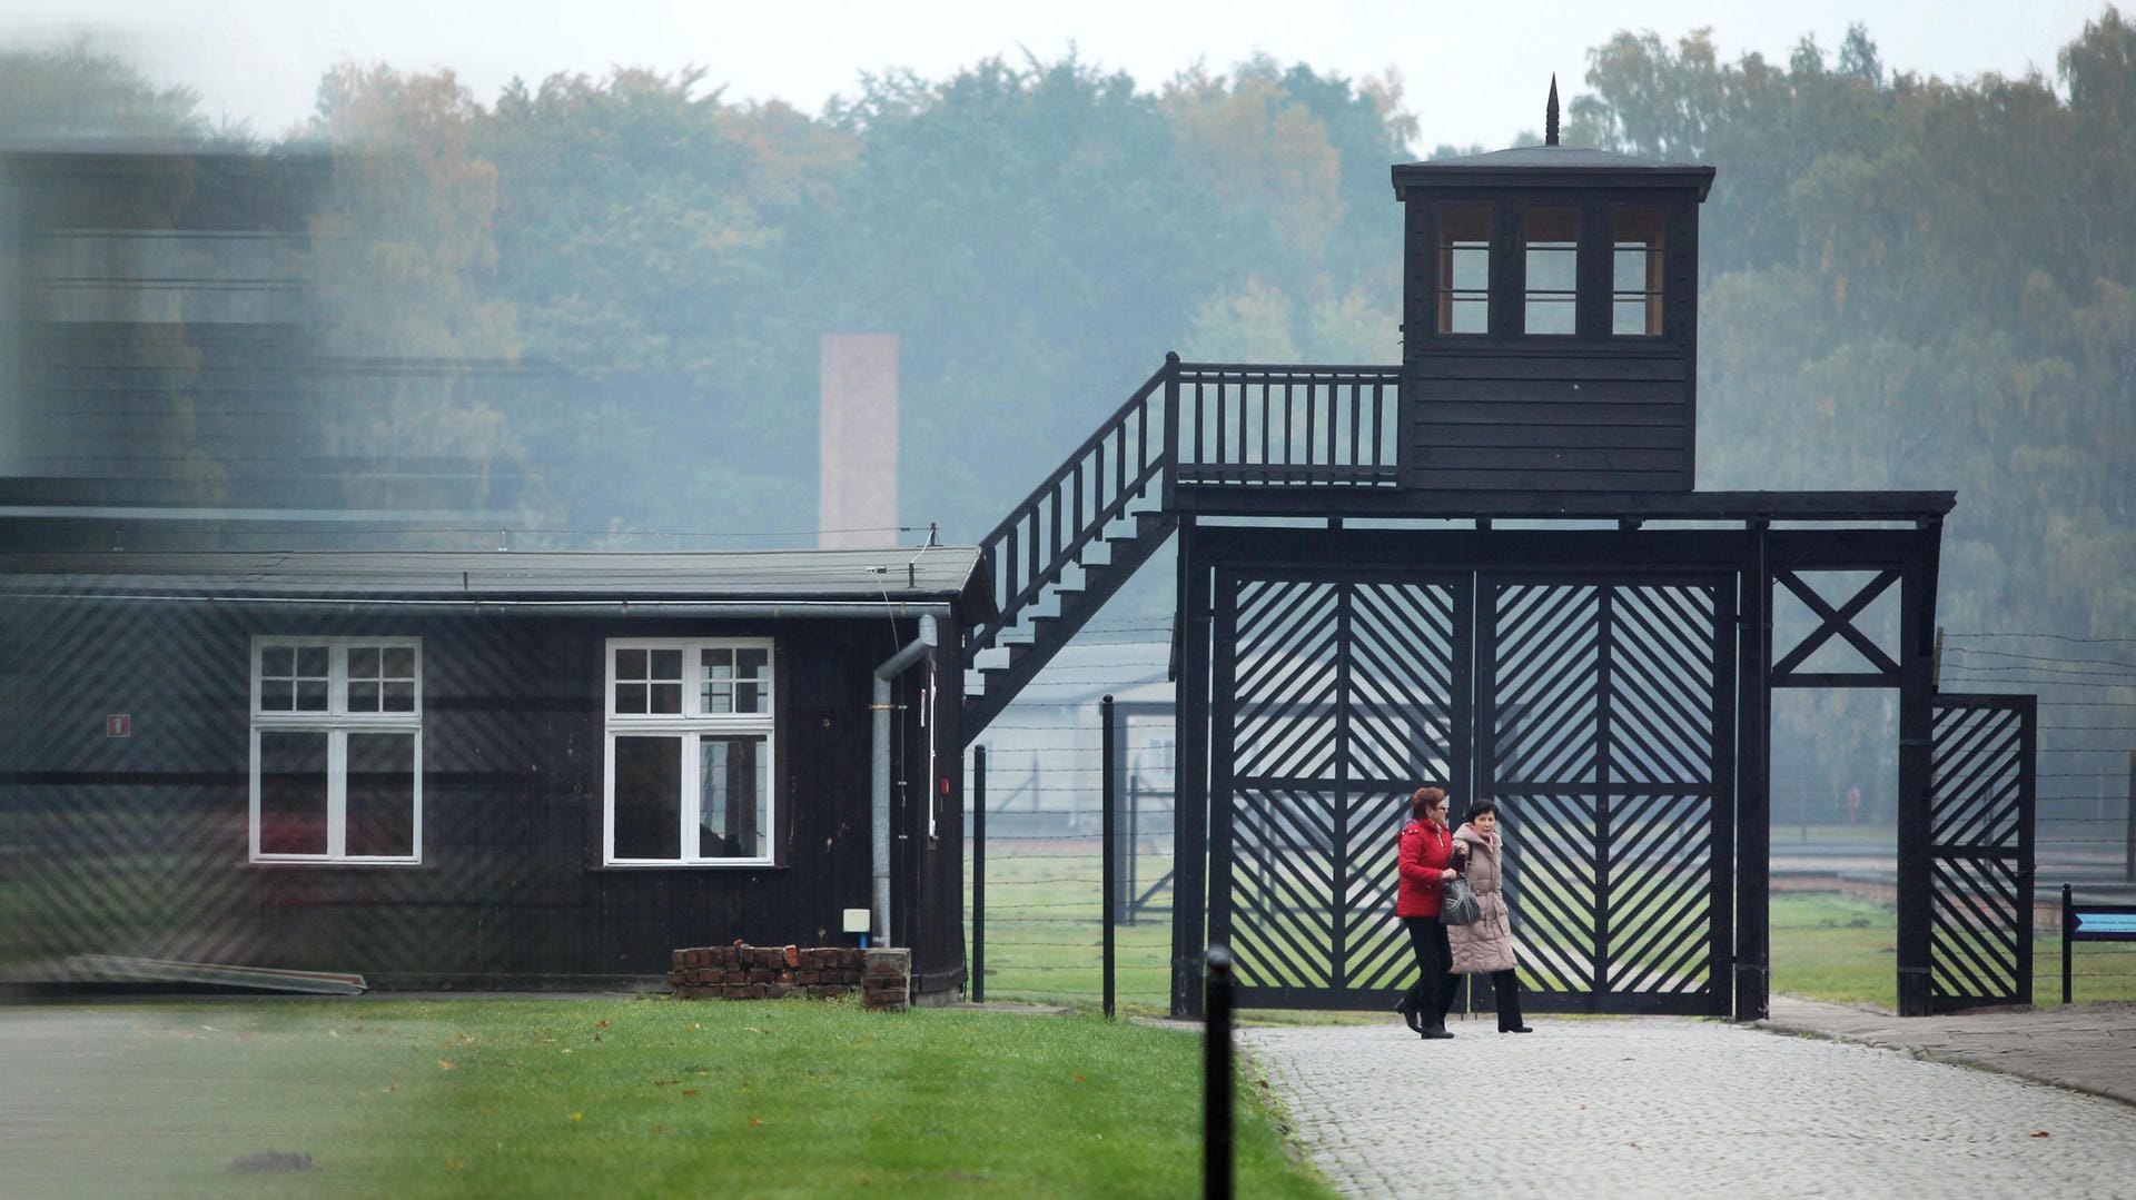
[[[1136,500],[1149,500],[1149,512],[1171,515],[1179,485],[1399,487],[1399,393],[1401,367],[1258,367],[1181,363],[1166,354],[1096,433],[980,538],[998,615],[965,636],[965,666],[976,666],[980,651],[1023,623],[1049,589],[1059,591],[1064,572],[1083,566],[1083,551],[1104,542],[1106,527],[1130,517]],[[1147,530],[1151,540],[1162,538],[1171,523]],[[1134,536],[1145,536],[1143,527]],[[1134,549],[1132,562],[1143,562],[1153,547]],[[1072,632],[1059,630],[1055,638],[1064,643]],[[1059,647],[1036,649],[1051,658]],[[995,707],[1002,702],[995,698]]]

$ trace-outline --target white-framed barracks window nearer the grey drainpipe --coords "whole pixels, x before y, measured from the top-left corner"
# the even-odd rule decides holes
[[[602,863],[773,860],[771,638],[607,643]]]

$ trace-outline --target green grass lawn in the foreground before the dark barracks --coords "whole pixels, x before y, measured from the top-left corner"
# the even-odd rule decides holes
[[[6,1196],[1192,1196],[1200,1038],[852,1001],[88,1008]],[[11,1021],[53,1010],[0,1012]],[[0,1063],[4,1065],[4,1063]],[[21,1078],[19,1068],[4,1065]],[[26,1080],[9,1087],[30,1087]],[[1333,1196],[1241,1087],[1250,1196]],[[310,1170],[241,1172],[278,1151]],[[286,1162],[286,1159],[284,1159]]]

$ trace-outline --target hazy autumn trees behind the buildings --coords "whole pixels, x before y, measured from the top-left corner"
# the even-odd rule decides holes
[[[519,480],[525,544],[807,544],[827,331],[899,335],[899,519],[948,540],[1166,350],[1395,361],[1386,169],[1429,130],[1393,75],[1267,58],[987,60],[822,113],[703,70],[478,98],[344,64],[276,143],[88,47],[0,85],[15,132],[329,154],[329,348],[466,367],[333,397],[323,440]],[[1860,26],[1786,62],[1625,32],[1585,85],[1568,143],[1719,171],[1702,489],[1957,489],[1948,626],[2136,630],[2136,26],[2108,6],[2023,79],[1892,73]]]

